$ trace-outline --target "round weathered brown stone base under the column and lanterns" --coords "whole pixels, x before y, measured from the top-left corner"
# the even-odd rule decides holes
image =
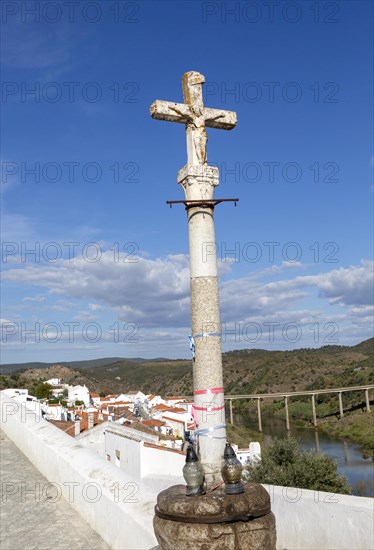
[[[153,522],[160,550],[275,550],[269,494],[257,484],[245,489],[239,495],[218,489],[199,497],[187,497],[183,485],[162,491]]]

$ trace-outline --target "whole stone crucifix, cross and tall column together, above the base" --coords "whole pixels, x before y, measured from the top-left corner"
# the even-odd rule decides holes
[[[222,482],[226,424],[212,201],[214,187],[219,181],[219,171],[217,167],[207,164],[206,127],[231,130],[235,127],[237,118],[232,111],[204,107],[204,82],[204,76],[198,72],[185,73],[182,78],[185,103],[156,100],[151,105],[150,112],[157,120],[186,125],[187,164],[179,171],[177,181],[186,196],[190,244],[191,331],[195,344],[194,415],[198,428],[200,461],[209,490]]]

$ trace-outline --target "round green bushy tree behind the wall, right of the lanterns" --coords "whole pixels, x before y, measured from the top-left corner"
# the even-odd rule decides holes
[[[261,462],[248,466],[247,477],[256,483],[299,487],[349,494],[345,476],[337,473],[335,460],[323,453],[302,451],[294,437],[277,439],[262,451]]]

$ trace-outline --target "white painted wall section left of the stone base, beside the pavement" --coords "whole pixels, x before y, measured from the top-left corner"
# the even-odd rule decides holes
[[[36,415],[21,416],[21,404],[1,395],[1,425],[62,496],[117,550],[148,550],[157,544],[152,521],[156,493],[74,438]],[[72,483],[77,483],[74,487]],[[94,502],[94,499],[97,499]]]

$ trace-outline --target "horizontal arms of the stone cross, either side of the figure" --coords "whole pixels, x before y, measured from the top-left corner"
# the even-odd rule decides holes
[[[172,103],[156,99],[150,107],[151,117],[156,120],[167,120],[169,122],[180,122],[187,124],[193,117],[190,105],[186,103]],[[221,130],[232,130],[237,124],[237,116],[234,111],[223,111],[221,109],[210,109],[204,107],[203,116],[205,126],[208,128],[219,128]]]

